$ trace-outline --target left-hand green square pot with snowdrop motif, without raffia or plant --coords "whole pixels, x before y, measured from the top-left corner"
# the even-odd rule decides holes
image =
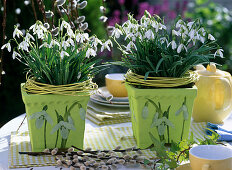
[[[28,94],[21,84],[32,151],[45,148],[83,148],[89,96]],[[87,95],[83,93],[82,95]]]

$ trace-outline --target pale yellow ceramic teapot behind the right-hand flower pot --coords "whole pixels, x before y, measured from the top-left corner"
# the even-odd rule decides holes
[[[192,117],[195,122],[223,123],[232,111],[231,75],[216,68],[215,64],[198,65],[196,72],[197,97]]]

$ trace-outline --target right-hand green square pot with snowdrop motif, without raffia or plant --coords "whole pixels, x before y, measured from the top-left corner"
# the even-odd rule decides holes
[[[138,89],[126,83],[137,146],[152,145],[149,133],[165,143],[188,138],[197,88]]]

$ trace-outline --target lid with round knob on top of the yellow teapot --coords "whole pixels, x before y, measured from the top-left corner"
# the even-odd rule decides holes
[[[196,72],[200,76],[230,76],[230,73],[217,69],[214,63],[210,63],[209,65],[207,65],[207,68],[205,68],[203,65],[197,65]]]

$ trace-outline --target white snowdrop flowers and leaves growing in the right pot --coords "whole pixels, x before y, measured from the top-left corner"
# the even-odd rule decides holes
[[[145,78],[182,77],[195,65],[223,57],[223,50],[199,20],[185,22],[177,18],[168,27],[159,16],[145,11],[139,21],[128,15],[124,24],[115,26],[111,37],[123,54],[117,64]],[[126,44],[119,44],[119,39]]]

